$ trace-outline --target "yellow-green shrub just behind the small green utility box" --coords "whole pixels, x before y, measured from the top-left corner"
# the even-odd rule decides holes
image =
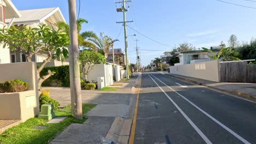
[[[58,106],[60,105],[58,101],[50,98],[49,89],[43,89],[42,93],[39,96],[40,109],[43,104],[53,104],[54,110],[57,110]]]

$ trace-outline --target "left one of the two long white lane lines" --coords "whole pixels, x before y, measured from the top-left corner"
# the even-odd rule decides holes
[[[149,77],[155,82],[155,80],[149,75]],[[155,82],[155,84],[161,89],[161,91],[166,95],[166,97],[171,100],[172,104],[179,110],[179,112],[182,113],[183,117],[187,119],[189,124],[196,130],[196,132],[202,137],[202,139],[208,144],[212,143],[206,136],[205,134],[202,133],[202,131],[197,128],[194,122],[191,121],[191,119],[182,111],[181,108],[170,98],[170,96],[158,85],[158,83]]]

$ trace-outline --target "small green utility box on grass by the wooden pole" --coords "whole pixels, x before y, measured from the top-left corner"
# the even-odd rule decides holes
[[[41,106],[41,112],[38,116],[39,118],[47,119],[50,121],[51,119],[55,118],[54,111],[53,111],[53,104],[44,104]]]

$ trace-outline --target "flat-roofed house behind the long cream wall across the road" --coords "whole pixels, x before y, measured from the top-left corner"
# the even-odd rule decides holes
[[[211,47],[211,50],[217,54],[220,48],[220,46],[213,46]],[[212,60],[208,57],[208,52],[205,50],[192,50],[177,53],[179,54],[179,63],[176,63],[174,65],[183,65]]]

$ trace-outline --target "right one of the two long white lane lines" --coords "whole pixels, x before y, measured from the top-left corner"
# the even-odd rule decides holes
[[[152,75],[152,74],[151,74]],[[154,75],[152,75],[154,76]],[[155,79],[159,80],[156,76],[154,76]],[[161,80],[159,80],[162,84],[164,84],[165,86],[167,86],[164,82],[162,82]],[[241,137],[240,135],[236,134],[234,131],[232,131],[231,129],[229,129],[228,127],[226,127],[224,124],[222,124],[221,122],[219,122],[216,118],[212,117],[211,115],[209,115],[207,112],[203,111],[202,109],[200,109],[198,106],[196,106],[194,103],[192,103],[190,100],[188,100],[187,98],[185,98],[183,95],[179,94],[178,92],[174,91],[174,89],[172,89],[171,87],[167,86],[168,88],[170,88],[173,92],[177,93],[179,96],[181,96],[183,99],[187,100],[191,105],[195,106],[196,109],[198,109],[199,111],[201,111],[202,113],[204,113],[206,116],[208,116],[209,118],[212,119],[212,121],[216,122],[217,124],[219,124],[222,128],[224,128],[225,130],[229,131],[229,133],[231,133],[232,135],[234,135],[237,139],[239,139],[240,141],[242,141],[243,143],[249,144],[249,142],[245,139],[243,139],[243,137]]]

